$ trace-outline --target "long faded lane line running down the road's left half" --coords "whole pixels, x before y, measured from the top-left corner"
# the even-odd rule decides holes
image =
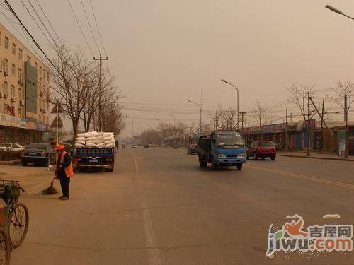
[[[135,153],[131,153],[134,158],[137,179],[140,179],[140,171],[137,165],[137,159],[135,158]],[[152,218],[150,216],[150,211],[148,209],[147,201],[139,182],[138,185],[140,189],[140,194],[142,194],[142,220],[144,222],[145,240],[147,241],[147,254],[149,255],[150,265],[161,265],[161,258],[159,254],[159,249],[157,249],[156,237],[154,233],[154,228],[152,227]]]

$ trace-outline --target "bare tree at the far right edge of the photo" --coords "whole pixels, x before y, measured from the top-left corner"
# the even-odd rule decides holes
[[[348,112],[352,103],[354,102],[354,89],[353,84],[348,81],[338,81],[338,88],[334,89],[334,97],[330,100],[334,104],[340,106],[344,112],[344,121],[346,122],[346,147],[345,147],[345,157],[348,158]]]

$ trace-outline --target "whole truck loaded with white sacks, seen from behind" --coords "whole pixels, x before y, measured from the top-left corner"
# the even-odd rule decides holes
[[[78,134],[72,154],[78,170],[101,168],[112,172],[115,163],[114,134],[103,131]]]

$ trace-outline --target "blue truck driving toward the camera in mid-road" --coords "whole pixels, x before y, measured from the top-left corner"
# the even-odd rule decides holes
[[[212,131],[210,136],[200,136],[198,150],[200,167],[210,163],[212,170],[230,166],[241,170],[246,162],[244,139],[238,131]]]

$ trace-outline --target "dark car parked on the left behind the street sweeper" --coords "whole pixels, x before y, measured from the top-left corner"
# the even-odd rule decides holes
[[[30,143],[21,155],[21,164],[49,165],[55,163],[55,151],[50,143]]]

